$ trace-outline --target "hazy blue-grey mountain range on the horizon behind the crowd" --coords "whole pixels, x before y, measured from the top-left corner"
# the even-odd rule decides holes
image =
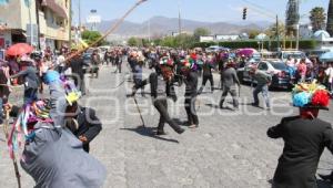
[[[104,33],[111,25],[115,23],[117,20],[102,21],[98,24],[98,31]],[[182,19],[182,31],[193,32],[196,28],[206,28],[211,31],[212,34],[240,34],[246,30],[265,30],[270,22],[258,21],[258,22],[201,22],[193,20]],[[90,25],[88,25],[89,28]],[[165,18],[165,17],[153,17],[148,21],[142,23],[134,23],[130,21],[124,21],[120,28],[112,33],[112,36],[118,38],[129,38],[129,36],[141,36],[148,38],[150,28],[150,35],[163,36],[171,35],[173,32],[179,30],[179,20],[178,18]]]

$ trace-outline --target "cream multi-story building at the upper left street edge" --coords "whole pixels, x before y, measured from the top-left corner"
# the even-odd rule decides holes
[[[2,3],[0,48],[18,42],[38,46],[38,35],[41,49],[59,49],[68,43],[70,3],[70,0],[9,0]]]

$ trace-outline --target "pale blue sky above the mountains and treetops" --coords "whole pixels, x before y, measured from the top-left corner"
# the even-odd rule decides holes
[[[78,22],[78,2],[72,0],[73,22]],[[81,20],[85,22],[91,9],[95,9],[102,20],[120,18],[137,0],[81,0]],[[182,18],[196,21],[241,22],[242,9],[248,7],[248,21],[273,21],[275,14],[284,19],[287,0],[148,0],[127,20],[143,22],[154,15],[176,18],[179,6]],[[301,0],[302,22],[307,22],[313,7],[329,7],[329,0]]]

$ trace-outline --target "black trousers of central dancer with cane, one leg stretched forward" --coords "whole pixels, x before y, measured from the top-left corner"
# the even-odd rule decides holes
[[[172,129],[175,132],[180,130],[181,127],[176,125],[170,117],[168,113],[168,101],[167,98],[159,98],[154,101],[154,106],[160,113],[160,122],[158,126],[158,132],[163,132],[164,130],[164,124],[168,123]]]

